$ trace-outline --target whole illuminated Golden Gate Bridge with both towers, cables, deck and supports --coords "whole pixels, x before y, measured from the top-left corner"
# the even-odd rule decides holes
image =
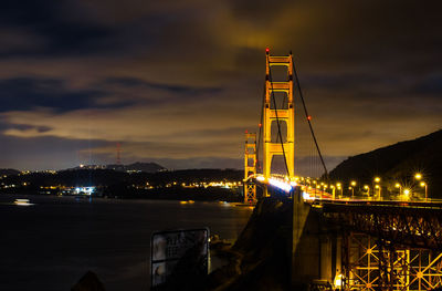
[[[442,288],[442,201],[429,199],[422,180],[425,196],[419,201],[410,200],[409,189],[400,185],[402,198],[382,196],[380,177],[362,187],[364,195],[355,195],[356,180],[348,181],[350,195],[344,195],[345,185],[328,177],[292,53],[276,56],[266,49],[265,56],[259,134],[245,132],[244,204],[259,202],[257,189],[262,200],[293,201],[294,280],[323,280],[341,290]],[[275,70],[283,80],[275,80]],[[323,168],[318,178],[295,175],[295,87],[303,105],[298,115],[304,115]],[[282,157],[284,174],[273,173],[275,157]],[[305,268],[314,258],[319,267]]]

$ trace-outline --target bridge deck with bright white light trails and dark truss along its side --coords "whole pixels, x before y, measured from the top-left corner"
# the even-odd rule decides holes
[[[290,196],[295,193],[294,183],[278,178],[270,181],[257,178],[256,181],[273,187],[280,194]],[[364,232],[391,246],[442,251],[441,200],[333,199],[330,194],[324,191],[302,191],[299,195],[326,221],[340,226],[343,230]]]

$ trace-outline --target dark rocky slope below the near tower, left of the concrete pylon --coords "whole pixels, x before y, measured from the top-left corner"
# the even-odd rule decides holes
[[[292,209],[292,200],[260,200],[207,290],[291,290]]]

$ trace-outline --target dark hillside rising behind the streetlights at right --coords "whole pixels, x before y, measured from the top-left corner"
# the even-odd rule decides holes
[[[357,180],[359,185],[371,185],[373,177],[379,176],[387,190],[393,191],[396,183],[419,190],[415,173],[422,174],[430,197],[442,198],[442,129],[349,157],[329,176],[346,183]]]

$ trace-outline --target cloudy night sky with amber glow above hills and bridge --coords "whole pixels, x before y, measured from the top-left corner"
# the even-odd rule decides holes
[[[329,167],[441,128],[439,1],[0,4],[0,168],[238,167],[293,51]],[[299,139],[302,141],[302,138]]]

